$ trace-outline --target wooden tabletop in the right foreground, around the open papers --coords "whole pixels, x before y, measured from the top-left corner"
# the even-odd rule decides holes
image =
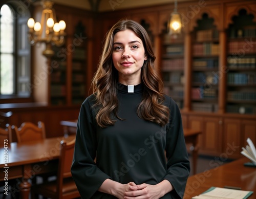
[[[212,162],[212,169],[190,176],[187,181],[184,199],[191,198],[206,191],[210,187],[240,187],[254,193],[249,199],[256,199],[256,167],[246,167],[247,158],[220,165]]]

